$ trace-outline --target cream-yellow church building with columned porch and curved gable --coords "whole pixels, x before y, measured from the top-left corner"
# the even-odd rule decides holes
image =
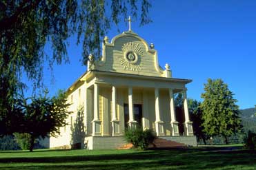
[[[70,127],[81,106],[86,135],[81,146],[87,149],[121,147],[125,128],[136,126],[153,129],[159,138],[197,145],[186,98],[190,82],[173,78],[168,64],[162,69],[154,45],[131,30],[112,41],[105,37],[101,59],[89,56],[87,72],[69,87],[69,125],[58,138],[50,138],[50,147],[70,147]],[[180,92],[184,109],[178,113],[173,96]]]

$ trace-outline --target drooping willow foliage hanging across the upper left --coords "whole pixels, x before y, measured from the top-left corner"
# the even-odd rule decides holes
[[[140,10],[139,10],[140,8]],[[101,41],[121,16],[128,12],[140,23],[150,22],[148,0],[2,0],[0,1],[0,121],[5,125],[13,112],[15,98],[26,87],[27,76],[35,87],[42,87],[43,64],[68,62],[70,36],[82,41],[82,63],[88,54],[100,58]],[[44,51],[51,45],[52,54]],[[25,75],[24,75],[25,74]],[[8,122],[8,121],[7,121]],[[8,129],[9,127],[3,127]],[[2,131],[4,132],[4,131]]]

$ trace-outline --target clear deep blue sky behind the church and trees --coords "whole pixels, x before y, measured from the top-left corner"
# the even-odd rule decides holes
[[[175,78],[193,79],[188,97],[201,100],[208,78],[222,78],[241,109],[256,105],[256,1],[152,1],[152,23],[132,30],[154,43],[159,64],[169,63]],[[119,30],[128,30],[121,23]],[[107,36],[119,34],[113,26]],[[86,67],[81,65],[81,45],[70,39],[70,64],[56,65],[55,81],[45,68],[44,83],[55,94],[67,89]]]

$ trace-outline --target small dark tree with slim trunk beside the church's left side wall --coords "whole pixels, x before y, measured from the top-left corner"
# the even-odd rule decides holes
[[[35,139],[50,136],[58,136],[60,127],[66,125],[66,118],[70,114],[66,94],[59,92],[52,98],[44,96],[23,100],[23,127],[19,133],[30,134],[30,151],[33,150]]]

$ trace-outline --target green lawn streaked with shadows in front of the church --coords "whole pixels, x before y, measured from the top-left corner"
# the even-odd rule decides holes
[[[239,148],[0,151],[0,169],[256,169],[256,151]]]

